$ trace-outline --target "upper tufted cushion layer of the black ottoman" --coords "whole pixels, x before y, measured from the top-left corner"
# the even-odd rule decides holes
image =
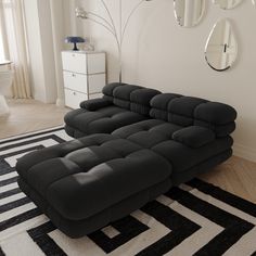
[[[111,135],[94,135],[33,152],[17,172],[64,218],[80,220],[168,180],[163,156]]]

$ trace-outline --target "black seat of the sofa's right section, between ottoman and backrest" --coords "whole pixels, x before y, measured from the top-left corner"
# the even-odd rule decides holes
[[[188,143],[181,141],[181,139],[180,141],[175,141],[172,138],[175,133],[183,133],[182,131],[184,131],[184,129],[192,129],[193,132],[195,132],[193,126],[184,128],[171,123],[151,119],[121,127],[112,135],[127,139],[164,156],[172,166],[172,172],[185,171],[187,169],[207,161],[212,156],[227,151],[233,143],[231,137],[215,139],[213,131],[209,130],[209,135],[206,138],[208,143],[201,142],[200,144],[196,142],[196,145],[200,146],[192,148],[188,145]],[[207,129],[199,127],[196,133],[201,133],[202,130],[205,131]],[[204,137],[204,135],[202,136]]]

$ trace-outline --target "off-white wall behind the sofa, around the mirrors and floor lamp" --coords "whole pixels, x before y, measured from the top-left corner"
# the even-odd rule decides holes
[[[127,10],[138,0],[123,2]],[[91,11],[104,14],[100,1],[90,3]],[[107,3],[116,18],[118,1]],[[220,17],[230,17],[239,41],[239,60],[232,69],[223,73],[210,69],[204,59],[206,39]],[[208,0],[203,22],[190,29],[178,26],[171,0],[145,2],[135,15],[124,43],[124,80],[233,105],[239,112],[234,152],[256,161],[255,24],[256,8],[251,0],[230,11],[220,10]],[[108,54],[108,80],[117,80],[113,38],[98,25],[91,26],[91,33],[98,49]]]

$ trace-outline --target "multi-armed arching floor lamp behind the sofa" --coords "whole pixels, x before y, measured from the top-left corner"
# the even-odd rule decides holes
[[[121,49],[123,49],[123,42],[125,39],[126,30],[129,25],[130,18],[132,17],[133,13],[137,11],[137,9],[144,2],[149,2],[152,0],[140,0],[130,11],[129,15],[127,16],[127,20],[124,23],[123,26],[123,0],[119,0],[119,29],[117,29],[113,15],[105,3],[104,0],[100,0],[103,4],[108,18],[105,18],[94,12],[86,11],[84,8],[76,8],[76,16],[80,18],[86,18],[89,21],[92,21],[102,27],[104,27],[111,35],[115,38],[117,50],[118,50],[118,63],[119,63],[119,82],[121,82]]]

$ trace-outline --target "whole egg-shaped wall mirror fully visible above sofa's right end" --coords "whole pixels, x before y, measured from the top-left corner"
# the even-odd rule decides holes
[[[205,47],[205,59],[215,71],[229,69],[238,56],[238,42],[231,23],[225,18],[217,22]]]

